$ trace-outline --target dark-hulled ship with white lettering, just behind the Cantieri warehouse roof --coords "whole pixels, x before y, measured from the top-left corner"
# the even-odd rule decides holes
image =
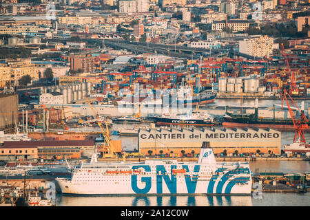
[[[188,114],[163,114],[161,116],[154,116],[152,119],[158,125],[191,125],[191,126],[214,126],[214,120],[210,115],[200,115],[198,112]]]

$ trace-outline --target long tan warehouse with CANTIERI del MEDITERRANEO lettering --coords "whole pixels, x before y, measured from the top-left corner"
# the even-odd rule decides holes
[[[215,154],[281,153],[281,133],[273,129],[140,129],[138,149],[145,155],[200,152],[209,142]],[[151,153],[152,151],[152,153]]]

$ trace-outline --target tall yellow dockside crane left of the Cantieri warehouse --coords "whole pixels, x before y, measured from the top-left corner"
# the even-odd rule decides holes
[[[113,146],[111,139],[110,139],[109,128],[107,127],[108,123],[107,122],[105,123],[106,129],[104,129],[103,125],[101,124],[101,120],[99,118],[99,115],[96,113],[96,110],[92,106],[92,102],[90,102],[90,100],[88,100],[88,99],[87,99],[87,101],[90,104],[90,109],[92,109],[92,113],[94,114],[94,117],[97,120],[97,124],[99,125],[99,127],[101,129],[101,133],[103,135],[103,140],[105,140],[104,146],[107,147],[107,153],[103,152],[103,158],[118,158],[118,155],[114,151],[114,146]]]

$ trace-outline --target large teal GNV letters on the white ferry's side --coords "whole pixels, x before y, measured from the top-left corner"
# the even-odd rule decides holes
[[[148,165],[134,166],[134,169],[136,168],[144,168],[145,173],[151,171],[151,168]],[[170,166],[171,173],[168,175],[165,166],[163,165],[156,166],[156,193],[158,194],[163,193],[164,183],[167,186],[170,193],[177,193],[176,176],[172,175],[172,170],[175,168],[176,165],[171,165]],[[187,165],[182,165],[182,168],[185,169],[187,172],[189,172],[189,167]],[[192,171],[194,173],[198,173],[199,170],[200,165],[195,165],[194,170]],[[195,193],[198,181],[198,175],[193,175],[192,177],[190,175],[184,175],[184,178],[187,186],[187,192]],[[151,190],[152,188],[152,177],[141,177],[141,182],[145,183],[144,188],[138,188],[138,175],[132,175],[132,190],[137,194],[147,194],[149,190]]]

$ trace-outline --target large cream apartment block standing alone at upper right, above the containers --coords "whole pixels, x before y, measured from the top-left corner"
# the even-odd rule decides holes
[[[249,54],[250,56],[269,58],[273,51],[273,38],[268,36],[259,36],[253,39],[244,39],[239,41],[239,52]]]

